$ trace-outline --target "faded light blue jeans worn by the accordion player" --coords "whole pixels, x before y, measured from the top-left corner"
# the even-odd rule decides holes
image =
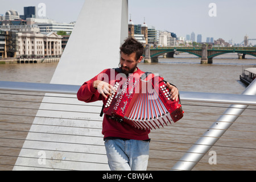
[[[146,171],[149,142],[142,140],[106,139],[106,154],[112,171]]]

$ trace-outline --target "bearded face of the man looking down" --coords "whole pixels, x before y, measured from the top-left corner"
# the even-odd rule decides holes
[[[122,72],[125,73],[125,75],[129,75],[129,73],[137,71],[137,64],[140,63],[141,60],[142,56],[139,58],[139,60],[136,60],[136,52],[133,52],[130,55],[126,55],[125,53],[121,52],[120,64]]]

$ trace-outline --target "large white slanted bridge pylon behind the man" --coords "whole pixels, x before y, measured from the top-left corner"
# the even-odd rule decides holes
[[[127,36],[127,0],[85,0],[51,84],[82,85],[103,69],[118,67],[119,47]],[[109,170],[102,118],[90,113],[100,113],[101,107],[93,105],[102,102],[74,106],[67,104],[83,103],[63,94],[46,96],[43,102],[63,105],[42,103],[39,109],[67,111],[38,110],[13,170]]]

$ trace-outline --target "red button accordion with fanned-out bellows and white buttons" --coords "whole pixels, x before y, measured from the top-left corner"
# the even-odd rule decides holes
[[[129,76],[127,80],[116,80],[114,88],[116,92],[108,96],[103,112],[115,121],[152,130],[183,117],[179,100],[170,98],[170,90],[162,77]]]

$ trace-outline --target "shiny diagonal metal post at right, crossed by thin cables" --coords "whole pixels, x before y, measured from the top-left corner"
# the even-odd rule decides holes
[[[255,95],[256,80],[251,82],[242,94]],[[225,131],[228,130],[234,121],[236,121],[236,119],[243,113],[247,106],[248,105],[230,105],[230,108],[228,108],[207,131],[205,131],[203,136],[189,148],[171,170],[192,170]]]

